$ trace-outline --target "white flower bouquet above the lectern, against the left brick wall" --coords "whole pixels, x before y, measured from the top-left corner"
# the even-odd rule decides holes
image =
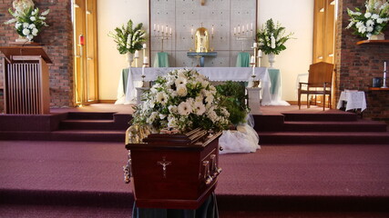
[[[26,37],[28,41],[32,41],[44,26],[48,26],[46,15],[50,10],[47,9],[40,14],[39,8],[34,8],[34,6],[34,2],[31,0],[15,0],[13,2],[14,10],[8,9],[9,14],[14,18],[5,22],[5,25],[15,24],[17,34]]]

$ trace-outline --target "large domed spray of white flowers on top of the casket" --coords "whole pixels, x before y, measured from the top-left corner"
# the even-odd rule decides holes
[[[220,94],[196,70],[178,69],[159,76],[135,107],[132,124],[186,133],[195,128],[223,130],[230,113],[220,105]]]

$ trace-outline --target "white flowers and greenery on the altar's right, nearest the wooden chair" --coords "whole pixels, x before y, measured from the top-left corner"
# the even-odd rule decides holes
[[[259,49],[264,54],[280,54],[286,49],[284,45],[292,38],[293,33],[286,34],[285,27],[277,22],[274,24],[272,19],[266,21],[263,28],[257,33],[257,42]]]

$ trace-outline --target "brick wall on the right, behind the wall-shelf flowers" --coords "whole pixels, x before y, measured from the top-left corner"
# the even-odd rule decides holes
[[[364,40],[353,35],[351,29],[345,29],[349,24],[347,8],[353,10],[359,7],[364,11],[365,0],[339,1],[338,38],[336,45],[336,86],[337,99],[344,89],[357,89],[366,95],[367,109],[363,116],[374,120],[389,122],[389,91],[369,91],[374,77],[383,77],[384,61],[389,64],[389,44],[363,44],[356,42]],[[385,32],[389,39],[389,29]],[[386,83],[387,85],[389,83]]]

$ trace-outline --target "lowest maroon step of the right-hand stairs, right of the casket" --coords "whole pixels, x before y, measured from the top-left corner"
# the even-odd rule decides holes
[[[260,144],[388,144],[387,132],[260,132]]]

